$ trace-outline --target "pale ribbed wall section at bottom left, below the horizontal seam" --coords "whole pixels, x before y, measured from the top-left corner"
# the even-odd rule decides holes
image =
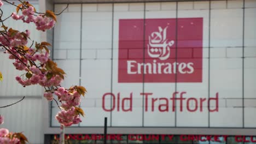
[[[0,106],[15,103],[21,98],[0,97]],[[43,143],[42,100],[45,99],[26,97],[18,104],[0,109],[0,114],[4,117],[1,128],[7,128],[11,132],[23,132],[30,143]]]

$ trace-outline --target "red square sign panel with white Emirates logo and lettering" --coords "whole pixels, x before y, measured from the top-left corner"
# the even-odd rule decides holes
[[[202,82],[202,26],[202,18],[119,20],[118,82]]]

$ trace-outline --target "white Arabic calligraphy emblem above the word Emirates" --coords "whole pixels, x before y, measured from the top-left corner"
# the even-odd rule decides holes
[[[148,55],[150,57],[165,60],[170,56],[170,47],[174,44],[174,40],[168,41],[166,39],[167,28],[168,26],[163,30],[161,27],[158,27],[159,32],[153,32],[149,35]]]

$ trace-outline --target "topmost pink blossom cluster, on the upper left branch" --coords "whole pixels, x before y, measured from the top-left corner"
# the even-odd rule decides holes
[[[46,17],[42,14],[35,16],[34,8],[32,6],[22,10],[22,15],[17,15],[16,13],[13,13],[11,17],[13,17],[14,20],[22,20],[26,23],[34,22],[37,26],[37,29],[43,32],[46,29],[53,28],[55,25],[55,21],[53,19],[50,19],[49,17]]]

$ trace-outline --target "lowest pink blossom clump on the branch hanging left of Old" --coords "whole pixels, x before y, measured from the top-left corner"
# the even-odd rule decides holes
[[[59,113],[57,113],[55,118],[65,127],[69,127],[72,124],[78,124],[79,122],[82,122],[81,118],[75,111],[74,106],[72,106],[71,109],[68,109],[67,111],[61,110]]]

